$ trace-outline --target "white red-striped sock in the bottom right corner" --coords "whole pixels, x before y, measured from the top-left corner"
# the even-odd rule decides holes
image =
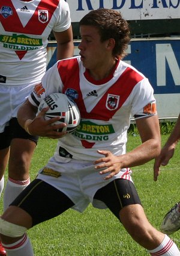
[[[167,235],[165,235],[163,242],[149,253],[151,256],[180,256],[178,247]]]

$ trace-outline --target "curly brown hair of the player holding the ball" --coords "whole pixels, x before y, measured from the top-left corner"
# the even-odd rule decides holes
[[[81,20],[79,25],[88,25],[98,28],[101,42],[113,38],[115,47],[113,56],[123,58],[130,42],[130,29],[126,20],[122,19],[121,13],[111,9],[98,9],[90,11]]]

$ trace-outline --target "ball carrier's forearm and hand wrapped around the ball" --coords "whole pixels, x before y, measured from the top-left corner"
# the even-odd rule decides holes
[[[52,123],[58,121],[61,117],[54,117],[50,120],[44,119],[44,114],[48,110],[43,108],[40,113],[37,114],[37,107],[31,104],[28,99],[22,104],[17,112],[17,120],[19,124],[31,135],[37,135],[41,137],[50,137],[52,139],[59,139],[66,134],[66,132],[59,133],[59,128],[65,126],[65,123],[59,125],[52,125]]]

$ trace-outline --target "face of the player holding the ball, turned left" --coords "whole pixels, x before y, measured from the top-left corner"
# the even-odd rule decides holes
[[[105,66],[108,58],[112,58],[112,52],[107,51],[107,41],[101,42],[98,29],[93,26],[80,26],[82,41],[79,44],[80,56],[83,63],[89,70],[99,70]],[[107,62],[106,62],[107,61]]]

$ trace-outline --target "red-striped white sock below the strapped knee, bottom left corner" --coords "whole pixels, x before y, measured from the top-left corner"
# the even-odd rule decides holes
[[[16,243],[10,245],[2,243],[2,245],[7,252],[7,256],[34,256],[31,242],[26,234]]]

